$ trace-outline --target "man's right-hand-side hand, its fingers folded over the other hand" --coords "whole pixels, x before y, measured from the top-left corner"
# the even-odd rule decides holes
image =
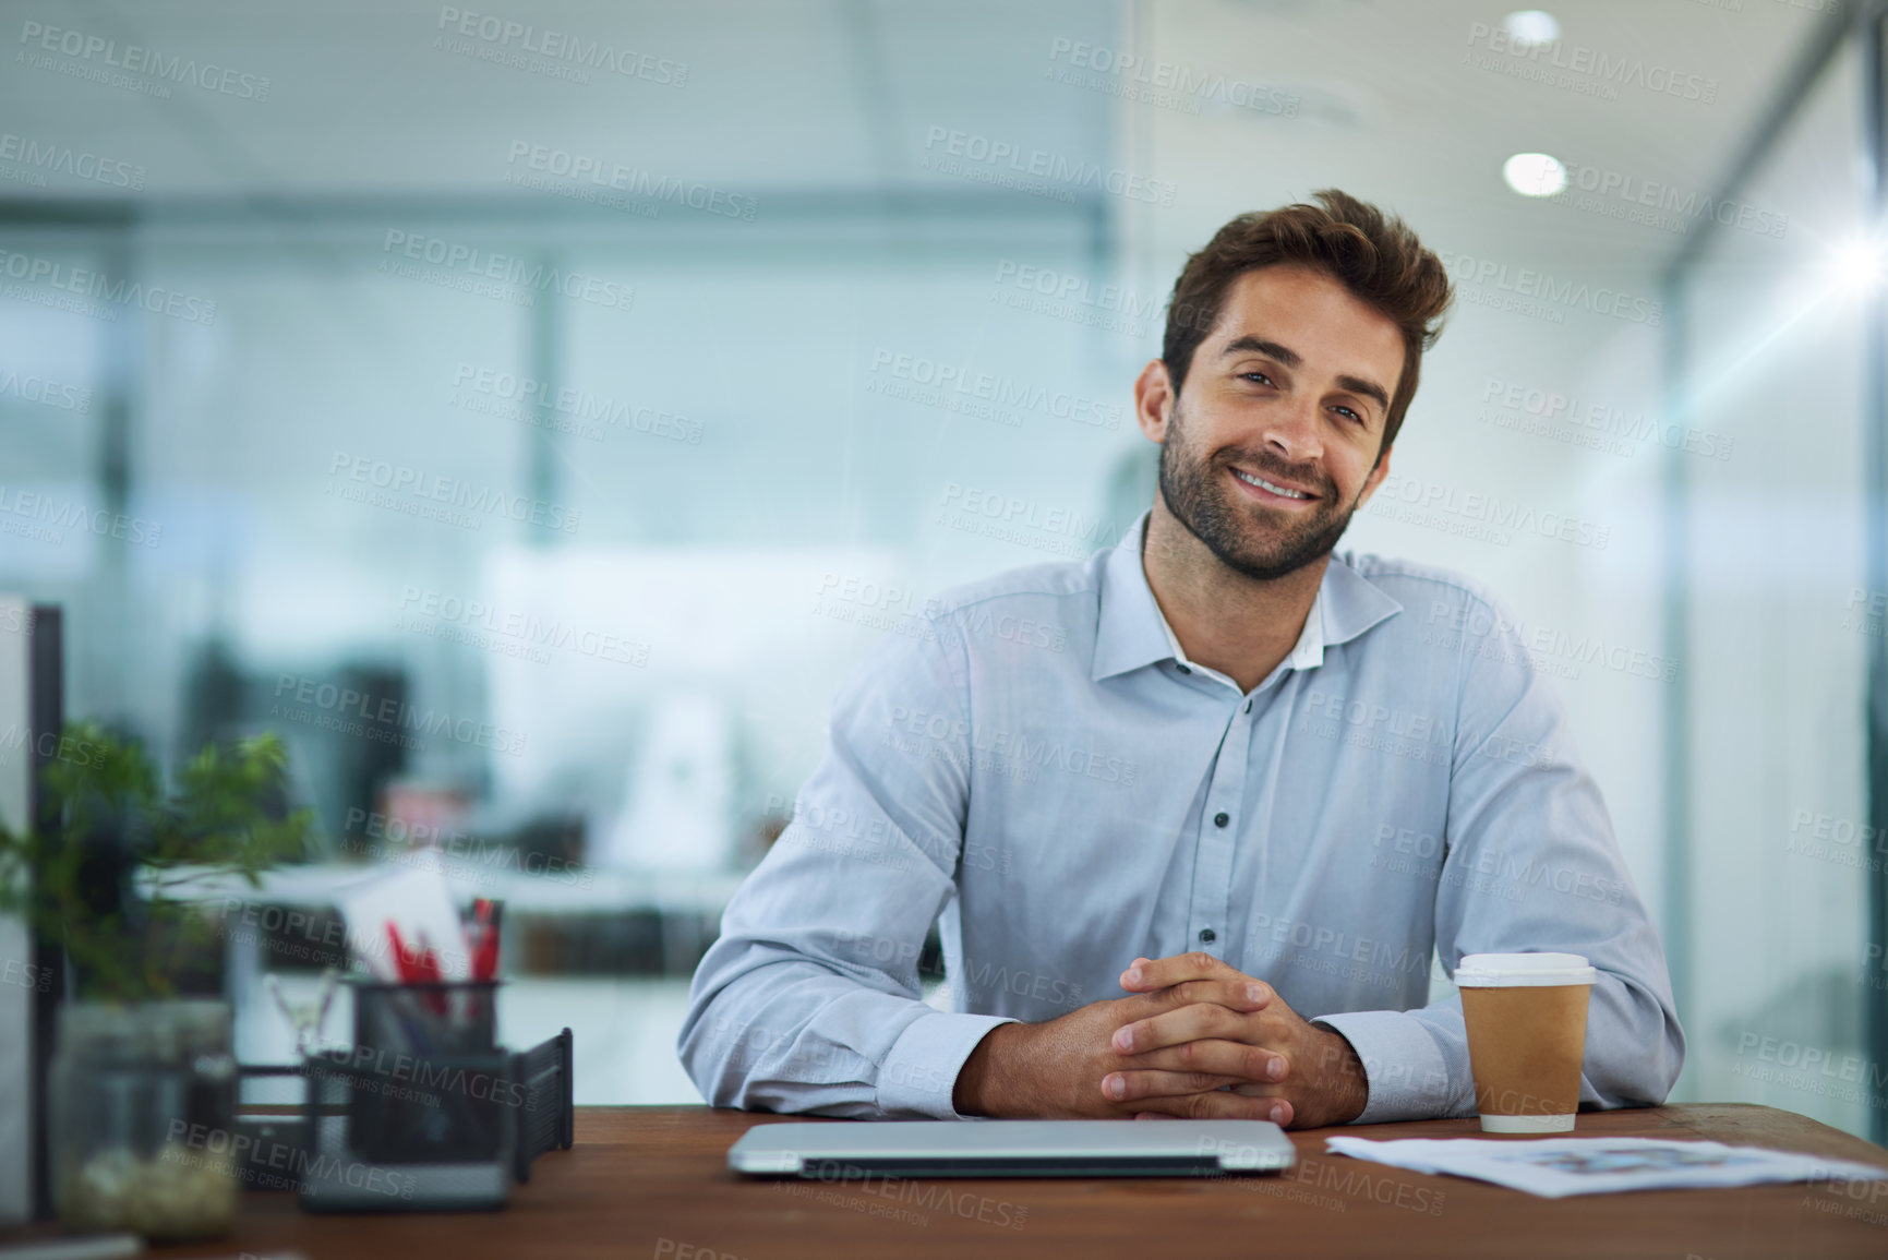
[[[1120,1056],[1103,1090],[1137,1115],[1276,1120],[1291,1128],[1348,1124],[1363,1115],[1369,1082],[1357,1052],[1337,1031],[1312,1028],[1263,980],[1212,954],[1137,958],[1121,973],[1131,994],[1165,997],[1167,1009],[1112,1033]],[[1227,990],[1263,1001],[1231,1007]],[[1231,1090],[1174,1088],[1174,1077],[1210,1075]],[[1284,1118],[1276,1109],[1284,1107]]]

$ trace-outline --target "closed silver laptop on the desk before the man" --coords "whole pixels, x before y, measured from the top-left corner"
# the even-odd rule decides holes
[[[727,1152],[755,1177],[1212,1177],[1291,1167],[1269,1120],[859,1120],[757,1124]]]

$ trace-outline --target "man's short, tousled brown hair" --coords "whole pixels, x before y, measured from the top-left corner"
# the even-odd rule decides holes
[[[1193,351],[1220,321],[1225,291],[1239,276],[1284,263],[1323,272],[1403,332],[1403,376],[1390,395],[1384,444],[1378,448],[1384,451],[1416,397],[1422,351],[1441,336],[1442,314],[1456,295],[1442,261],[1424,249],[1403,219],[1386,217],[1376,206],[1337,189],[1312,196],[1316,206],[1297,202],[1242,213],[1188,259],[1167,304],[1161,361],[1178,395]]]

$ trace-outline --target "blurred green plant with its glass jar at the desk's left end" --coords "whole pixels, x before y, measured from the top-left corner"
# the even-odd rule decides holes
[[[177,996],[215,920],[191,884],[300,856],[274,733],[208,746],[166,784],[149,754],[68,725],[43,771],[43,826],[0,826],[0,912],[57,941],[72,982],[49,1081],[59,1215],[85,1230],[213,1237],[236,1207],[236,1062],[223,1001]]]

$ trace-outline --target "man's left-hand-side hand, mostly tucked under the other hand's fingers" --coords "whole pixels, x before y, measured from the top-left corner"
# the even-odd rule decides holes
[[[1155,1062],[1154,1054],[1123,1056],[1112,1041],[1121,1028],[1178,1013],[1189,1001],[1214,1003],[1214,1009],[1231,1016],[1254,1014],[1271,999],[1271,988],[1231,973],[1223,982],[1201,980],[1189,986],[1186,999],[1174,992],[1142,994],[1095,1001],[1046,1024],[999,1024],[965,1060],[952,1105],[961,1115],[984,1116],[1127,1118],[1155,1111],[1155,1096],[1172,1099],[1205,1092],[1246,1109],[1227,1115],[1269,1120],[1273,1105],[1282,1105],[1290,1116],[1290,1103],[1216,1094],[1223,1086],[1246,1082],[1246,1077],[1172,1069]],[[1103,1081],[1120,1075],[1123,1067],[1137,1069],[1135,1081],[1152,1094],[1110,1096]]]

